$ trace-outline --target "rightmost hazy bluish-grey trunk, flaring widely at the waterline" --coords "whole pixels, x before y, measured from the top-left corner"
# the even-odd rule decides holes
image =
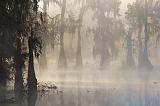
[[[145,41],[144,41],[144,51],[143,51],[143,66],[145,69],[153,69],[153,65],[151,64],[148,58],[148,2],[145,0]]]

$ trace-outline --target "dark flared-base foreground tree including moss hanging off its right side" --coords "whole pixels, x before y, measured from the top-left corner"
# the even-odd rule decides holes
[[[31,12],[30,17],[30,35],[28,36],[28,49],[29,49],[29,61],[28,61],[28,78],[27,85],[29,91],[37,90],[37,78],[34,68],[34,57],[39,58],[42,51],[42,36],[44,36],[45,28],[43,25],[43,20],[38,21],[39,15],[37,10]],[[42,32],[41,32],[42,31]],[[43,33],[43,34],[42,34]],[[41,36],[42,35],[42,36]]]

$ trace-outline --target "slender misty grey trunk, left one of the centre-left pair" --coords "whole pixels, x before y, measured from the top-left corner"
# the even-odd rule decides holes
[[[58,61],[58,68],[66,68],[67,67],[67,60],[64,51],[64,30],[65,30],[65,22],[64,16],[66,11],[66,0],[63,0],[62,4],[62,12],[61,12],[61,31],[60,31],[60,55]]]

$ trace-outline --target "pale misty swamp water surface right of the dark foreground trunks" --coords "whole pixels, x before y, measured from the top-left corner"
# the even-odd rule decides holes
[[[0,106],[160,106],[160,72],[156,70],[49,70],[38,76],[39,81],[55,83],[58,90],[33,93],[32,100],[26,98],[21,105]]]

